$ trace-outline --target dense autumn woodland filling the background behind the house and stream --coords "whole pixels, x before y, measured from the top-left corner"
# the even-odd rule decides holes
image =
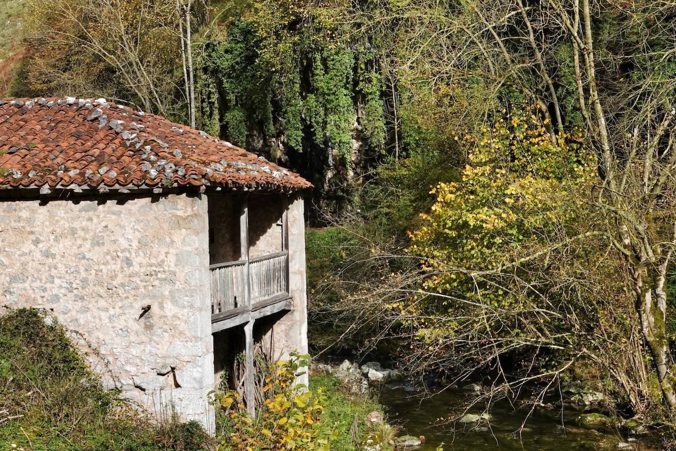
[[[16,8],[6,95],[115,99],[312,181],[316,352],[493,396],[574,374],[675,422],[676,3]]]

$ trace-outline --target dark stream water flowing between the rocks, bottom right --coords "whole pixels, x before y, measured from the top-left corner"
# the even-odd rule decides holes
[[[432,390],[433,396],[421,396],[411,387],[384,385],[379,389],[381,404],[389,408],[394,424],[402,431],[397,435],[425,436],[425,444],[418,451],[433,451],[442,442],[444,450],[618,450],[618,444],[628,442],[617,431],[593,431],[579,427],[575,419],[583,412],[572,408],[540,408],[535,410],[521,433],[523,420],[530,405],[512,406],[508,400],[496,402],[491,409],[491,419],[478,427],[477,423],[439,425],[437,419],[456,417],[463,412],[468,397],[460,389]],[[469,412],[480,414],[481,408]],[[441,423],[447,423],[441,421]],[[564,427],[562,427],[562,425]],[[624,445],[626,446],[626,445]],[[633,450],[651,450],[642,442],[631,441]]]

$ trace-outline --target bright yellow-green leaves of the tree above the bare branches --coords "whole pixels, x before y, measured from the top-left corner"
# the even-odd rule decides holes
[[[507,264],[526,248],[580,230],[586,209],[577,193],[589,191],[596,160],[581,146],[579,132],[561,133],[552,143],[537,116],[520,114],[501,118],[479,136],[458,138],[473,147],[462,181],[432,190],[436,202],[411,234],[410,250],[426,267]],[[475,281],[456,272],[431,277],[427,285],[475,291]],[[474,295],[484,302],[509,299],[494,287]]]

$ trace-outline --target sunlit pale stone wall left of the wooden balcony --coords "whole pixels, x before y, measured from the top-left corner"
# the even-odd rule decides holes
[[[107,386],[211,428],[208,264],[203,195],[0,200],[0,305],[50,310]]]

